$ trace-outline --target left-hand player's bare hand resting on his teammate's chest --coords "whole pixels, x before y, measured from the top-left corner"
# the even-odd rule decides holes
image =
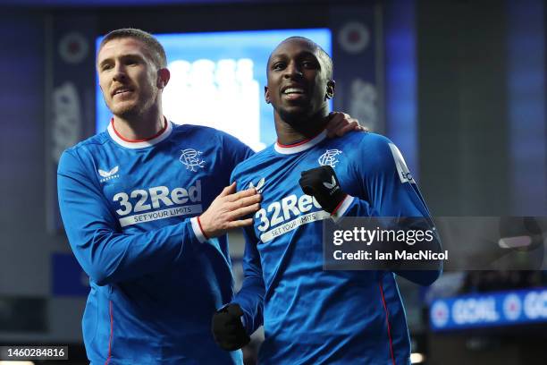
[[[236,183],[226,186],[209,208],[199,216],[199,225],[207,238],[218,237],[233,228],[253,224],[253,218],[240,219],[260,208],[262,196],[255,188],[236,192]]]

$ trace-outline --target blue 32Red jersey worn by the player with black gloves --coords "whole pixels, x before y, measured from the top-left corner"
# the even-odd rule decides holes
[[[265,343],[261,364],[408,364],[405,312],[393,273],[324,271],[321,220],[330,215],[299,186],[302,171],[330,165],[349,196],[341,216],[429,216],[399,149],[386,138],[352,132],[265,149],[236,166],[238,189],[262,192],[245,231],[245,280],[264,279]],[[414,273],[421,284],[439,271]],[[254,331],[260,295],[236,295]]]

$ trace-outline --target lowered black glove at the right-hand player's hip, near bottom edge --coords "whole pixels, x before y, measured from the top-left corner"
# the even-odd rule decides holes
[[[215,343],[223,350],[234,351],[250,342],[250,337],[241,324],[243,310],[239,304],[228,304],[213,315],[211,329]]]

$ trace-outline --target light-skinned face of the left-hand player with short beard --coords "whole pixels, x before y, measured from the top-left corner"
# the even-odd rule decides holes
[[[114,115],[141,115],[161,103],[164,81],[138,39],[114,38],[106,42],[97,55],[97,72],[106,106]]]

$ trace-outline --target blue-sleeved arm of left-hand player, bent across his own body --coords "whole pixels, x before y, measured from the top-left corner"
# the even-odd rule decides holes
[[[122,233],[98,183],[74,152],[65,151],[61,157],[57,189],[64,228],[74,255],[99,285],[163,269],[188,250],[209,244],[201,235],[196,218],[146,233]]]

